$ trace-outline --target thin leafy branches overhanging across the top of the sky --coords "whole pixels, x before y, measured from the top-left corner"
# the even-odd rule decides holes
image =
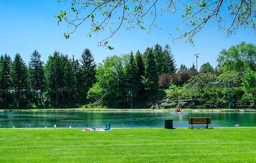
[[[58,0],[60,3],[60,0]],[[63,1],[66,2],[66,1]],[[183,25],[177,27],[177,33],[169,33],[174,40],[186,38],[186,42],[193,43],[195,35],[200,32],[206,24],[212,22],[217,24],[227,35],[236,33],[240,27],[251,28],[255,31],[255,1],[158,1],[158,0],[73,0],[70,1],[70,9],[60,10],[55,15],[58,25],[61,21],[66,21],[74,29],[69,33],[64,33],[69,38],[79,26],[91,24],[92,31],[88,31],[88,36],[93,33],[100,33],[108,30],[109,36],[98,42],[99,45],[113,49],[108,43],[108,39],[115,35],[118,30],[126,25],[127,29],[140,28],[151,33],[152,27],[157,27],[155,20],[158,15],[173,12],[181,13]],[[160,6],[159,7],[157,7]],[[178,12],[177,12],[178,11]],[[148,20],[150,22],[148,23]]]

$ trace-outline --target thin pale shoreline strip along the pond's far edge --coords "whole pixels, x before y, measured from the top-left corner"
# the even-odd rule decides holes
[[[175,109],[165,109],[165,110],[152,110],[152,109],[84,109],[84,108],[77,108],[77,109],[0,109],[0,111],[173,111]],[[183,109],[184,112],[256,112],[256,109]]]

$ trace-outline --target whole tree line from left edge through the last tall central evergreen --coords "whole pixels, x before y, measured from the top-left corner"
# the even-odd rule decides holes
[[[129,91],[139,100],[159,89],[159,76],[175,73],[169,45],[156,44],[142,54],[107,57],[97,67],[89,49],[81,58],[69,58],[55,51],[46,63],[36,50],[28,66],[19,54],[12,62],[5,54],[0,61],[0,105],[9,107],[65,107],[94,102],[107,95],[106,104],[125,106]],[[97,73],[97,74],[96,74]]]

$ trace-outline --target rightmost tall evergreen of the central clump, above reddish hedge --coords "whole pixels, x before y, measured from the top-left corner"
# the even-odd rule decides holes
[[[167,67],[165,66],[164,68],[164,73],[169,72],[170,74],[173,74],[177,71],[176,69],[176,64],[175,64],[175,59],[174,59],[174,54],[172,53],[172,50],[170,49],[170,46],[166,44],[164,46],[164,55],[165,55],[165,63],[167,63]],[[169,71],[168,71],[169,68]],[[167,71],[166,71],[167,69]]]

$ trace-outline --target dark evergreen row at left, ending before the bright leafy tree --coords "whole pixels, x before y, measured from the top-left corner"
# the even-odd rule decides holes
[[[13,62],[7,54],[1,56],[1,106],[41,106],[45,100],[51,106],[86,102],[96,80],[96,64],[89,49],[83,51],[80,62],[57,51],[46,64],[40,57],[35,50],[27,66],[19,54]]]

